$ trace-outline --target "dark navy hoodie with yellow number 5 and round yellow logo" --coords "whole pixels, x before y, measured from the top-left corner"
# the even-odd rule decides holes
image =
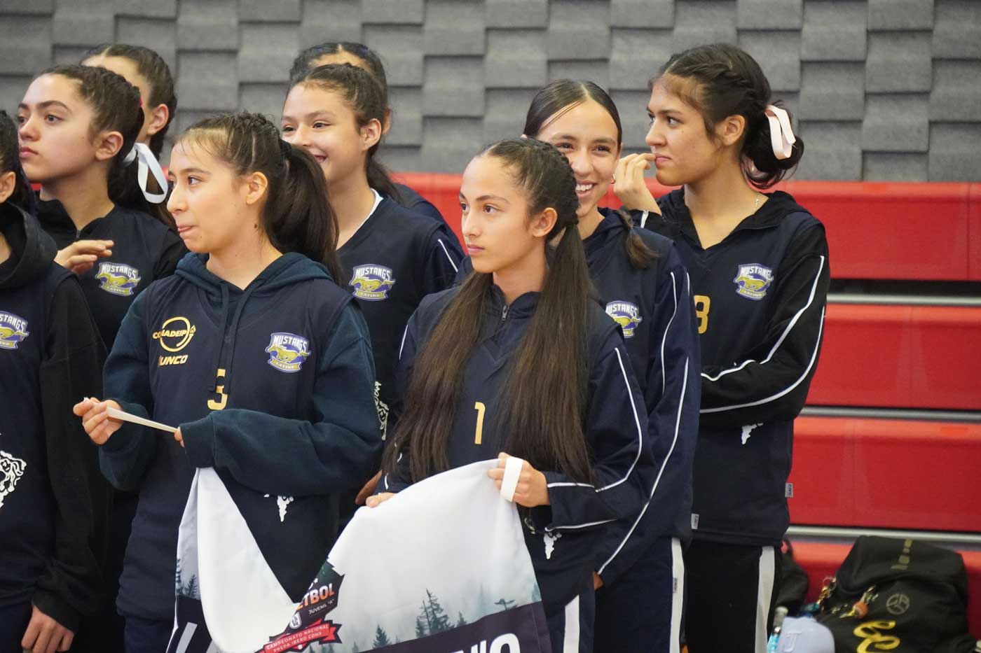
[[[371,346],[350,295],[299,254],[284,254],[244,290],[206,261],[187,255],[175,276],[136,298],[106,363],[107,397],[181,427],[186,447],[127,424],[100,449],[106,477],[139,489],[118,599],[124,615],[174,617],[178,529],[195,468],[226,481],[293,595],[333,544],[337,493],[379,463]],[[265,495],[263,515],[245,514]],[[294,497],[290,514],[319,515],[321,527],[280,524],[278,495]]]

